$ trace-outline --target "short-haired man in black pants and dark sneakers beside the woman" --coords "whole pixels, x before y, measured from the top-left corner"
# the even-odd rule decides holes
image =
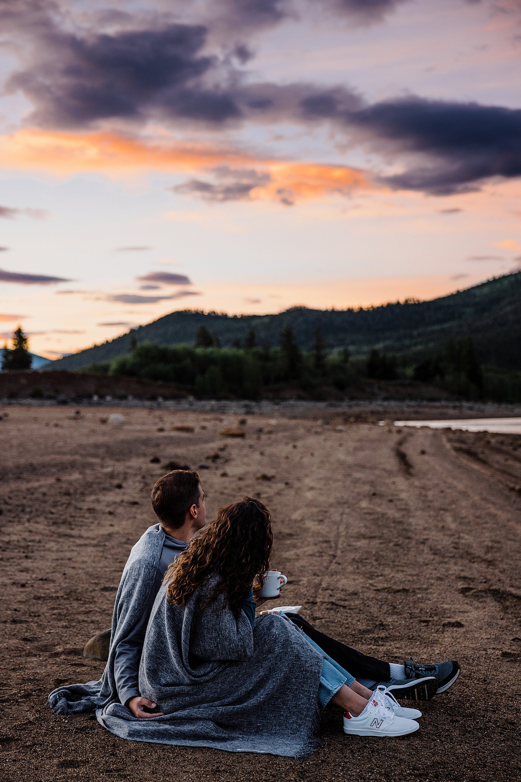
[[[152,507],[159,524],[141,536],[123,570],[112,616],[109,659],[102,679],[53,691],[49,703],[57,713],[121,704],[139,719],[158,716],[157,705],[142,698],[139,692],[139,662],[148,618],[166,569],[205,526],[205,496],[198,473],[174,470],[163,475],[152,489]],[[259,600],[257,605],[260,604]],[[383,662],[320,633],[299,615],[287,616],[327,655],[371,689],[384,683],[398,698],[428,700],[448,690],[459,676],[457,662],[416,665],[412,658],[405,665]]]

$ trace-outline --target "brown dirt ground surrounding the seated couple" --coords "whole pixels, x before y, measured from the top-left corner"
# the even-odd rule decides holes
[[[253,415],[244,439],[227,439],[219,431],[237,415],[119,412],[118,426],[110,409],[0,408],[2,779],[519,778],[519,436]],[[82,649],[110,625],[170,460],[207,465],[209,518],[261,497],[283,602],[320,630],[391,662],[459,659],[462,675],[423,705],[420,730],[347,737],[331,709],[323,748],[294,760],[129,742],[94,716],[49,711],[53,687],[102,673]]]

